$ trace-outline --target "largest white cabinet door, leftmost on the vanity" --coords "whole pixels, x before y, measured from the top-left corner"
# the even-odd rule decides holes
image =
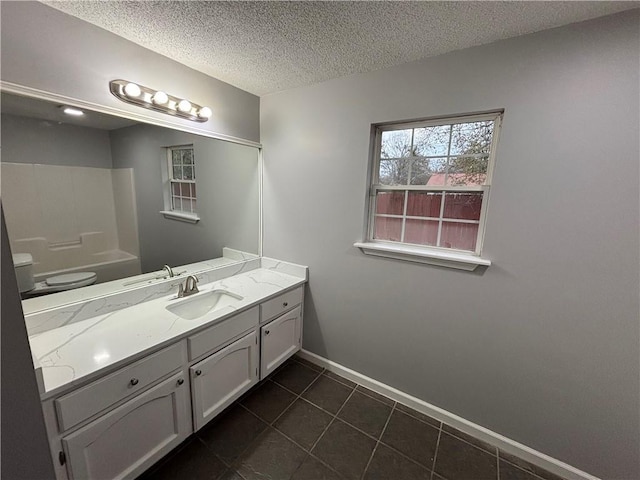
[[[192,432],[180,373],[63,437],[72,479],[134,478]]]

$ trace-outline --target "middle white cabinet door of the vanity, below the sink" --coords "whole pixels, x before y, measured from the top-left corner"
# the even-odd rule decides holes
[[[190,369],[196,430],[258,382],[258,337],[253,331]]]

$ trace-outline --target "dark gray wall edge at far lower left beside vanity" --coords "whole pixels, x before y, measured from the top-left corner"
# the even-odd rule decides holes
[[[54,478],[42,407],[29,350],[27,329],[11,261],[9,238],[0,210],[2,245],[2,465],[11,480]],[[9,266],[9,268],[5,268]]]

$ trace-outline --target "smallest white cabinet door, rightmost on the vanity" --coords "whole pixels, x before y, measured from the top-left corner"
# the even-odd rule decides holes
[[[260,380],[300,350],[301,322],[300,306],[298,306],[260,329],[262,338]]]

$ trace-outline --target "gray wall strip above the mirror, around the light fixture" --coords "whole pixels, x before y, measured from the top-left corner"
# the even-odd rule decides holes
[[[258,141],[258,97],[191,70],[38,2],[2,2],[2,80],[213,133]],[[138,82],[213,110],[204,124],[121,102],[115,79]]]

